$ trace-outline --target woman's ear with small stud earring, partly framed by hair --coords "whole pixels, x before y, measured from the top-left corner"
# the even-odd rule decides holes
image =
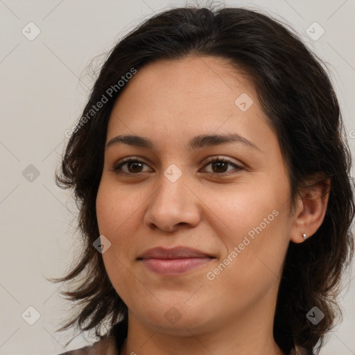
[[[309,238],[322,225],[327,211],[330,191],[330,179],[321,182],[308,182],[302,187],[297,200],[297,209],[293,214],[290,239],[293,243],[302,243],[306,234]]]

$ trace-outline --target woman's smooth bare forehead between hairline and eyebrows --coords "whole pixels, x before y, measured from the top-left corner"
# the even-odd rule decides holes
[[[114,105],[107,141],[147,132],[151,139],[181,141],[217,131],[253,140],[266,129],[267,117],[248,76],[223,58],[189,57],[157,60],[137,71]]]

